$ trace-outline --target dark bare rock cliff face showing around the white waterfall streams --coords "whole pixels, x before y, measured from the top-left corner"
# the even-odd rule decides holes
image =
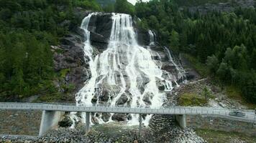
[[[79,11],[77,14],[83,17],[89,12]],[[111,34],[112,14],[96,14],[91,17],[88,24],[88,29],[91,31],[90,41],[94,47],[93,54],[97,55],[104,51],[109,44]],[[135,25],[135,22],[134,22]],[[73,27],[70,34],[66,35],[60,46],[52,46],[54,52],[55,71],[61,74],[61,79],[56,81],[59,92],[63,92],[62,102],[75,102],[75,94],[83,87],[84,82],[91,78],[91,71],[88,65],[88,58],[84,57],[83,42],[85,40],[84,31],[79,26]],[[168,72],[179,77],[175,65],[170,62],[166,48],[160,45],[150,45],[150,34],[148,31],[142,30],[135,26],[137,33],[137,41],[145,49],[150,49],[152,59],[159,63],[161,69],[164,69],[166,76]],[[179,77],[181,78],[181,77]],[[182,82],[182,79],[180,79]],[[175,83],[173,83],[175,84]],[[70,88],[73,87],[71,91]],[[161,88],[161,90],[163,90]],[[107,96],[107,93],[106,93]],[[102,97],[104,99],[104,97]],[[121,98],[122,99],[122,98]],[[122,101],[120,101],[122,104]]]

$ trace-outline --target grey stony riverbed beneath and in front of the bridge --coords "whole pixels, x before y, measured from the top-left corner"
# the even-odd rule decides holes
[[[0,136],[0,142],[206,142],[193,129],[181,129],[171,116],[155,115],[148,127],[142,127],[139,137],[138,126],[129,127],[125,122],[100,124],[84,134],[82,129],[52,129],[44,137]]]

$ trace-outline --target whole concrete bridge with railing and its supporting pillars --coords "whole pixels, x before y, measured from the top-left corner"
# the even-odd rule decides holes
[[[141,114],[171,114],[175,115],[175,119],[182,128],[186,128],[186,115],[207,115],[210,117],[220,117],[242,122],[256,123],[255,110],[239,110],[244,112],[245,116],[230,116],[229,112],[237,111],[237,109],[220,109],[213,107],[168,107],[168,108],[142,108],[142,107],[106,107],[106,106],[76,106],[76,104],[41,104],[41,103],[9,103],[0,102],[0,109],[4,110],[42,110],[42,119],[39,135],[44,135],[52,127],[58,126],[61,116],[64,112],[86,112],[86,132],[90,130],[90,113],[124,113],[124,114],[140,114],[140,131],[142,129]]]

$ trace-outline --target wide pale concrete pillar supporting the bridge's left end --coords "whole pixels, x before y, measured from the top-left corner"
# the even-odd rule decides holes
[[[60,118],[63,116],[64,112],[56,111],[42,111],[42,119],[40,124],[39,136],[44,135],[48,130],[57,127]]]

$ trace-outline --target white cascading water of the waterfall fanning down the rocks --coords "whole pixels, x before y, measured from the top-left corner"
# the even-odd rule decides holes
[[[104,104],[114,107],[122,101],[127,107],[159,108],[166,100],[164,91],[173,89],[173,76],[164,76],[163,70],[152,60],[150,50],[137,44],[137,37],[132,26],[132,17],[127,14],[112,14],[112,28],[108,48],[93,56],[88,24],[92,13],[83,19],[81,29],[85,31],[84,54],[91,70],[91,79],[76,94],[78,105]],[[154,34],[150,31],[152,36]],[[152,41],[151,41],[152,40]],[[155,38],[150,39],[155,44]],[[82,114],[82,119],[84,118]],[[107,122],[111,122],[110,115]],[[148,124],[152,115],[147,115],[143,122]],[[102,114],[93,117],[104,123]],[[138,124],[139,116],[131,114],[129,124]]]

